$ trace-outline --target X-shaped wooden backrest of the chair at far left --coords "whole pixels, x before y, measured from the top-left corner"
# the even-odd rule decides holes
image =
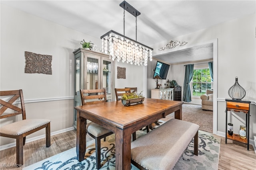
[[[0,91],[0,96],[1,96],[1,98],[4,96],[4,98],[0,99],[0,105],[1,105],[0,119],[19,115],[19,114],[22,114],[22,119],[26,119],[26,111],[25,111],[22,90]],[[20,100],[20,101],[18,101],[18,100]],[[16,102],[16,103],[20,102],[21,106],[19,107],[17,104],[14,105],[14,102]],[[6,111],[7,109],[11,109],[15,112],[14,113],[11,111],[7,112]],[[2,115],[3,113],[5,113],[5,115]]]

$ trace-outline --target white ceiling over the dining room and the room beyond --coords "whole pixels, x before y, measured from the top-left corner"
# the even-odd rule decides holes
[[[124,9],[119,6],[122,1],[1,0],[0,2],[100,38],[111,29],[121,34],[124,33]],[[256,9],[255,0],[126,0],[126,2],[141,13],[137,17],[137,41],[149,47],[162,41],[169,42],[174,37],[212,25],[255,14]],[[135,25],[135,17],[126,12],[125,35],[132,39],[136,39]],[[180,60],[187,61],[187,55],[190,55],[190,60],[193,60],[192,54],[209,53],[212,51],[211,48],[212,45],[196,47],[188,51],[174,52],[172,56],[175,58],[179,55],[177,57]]]

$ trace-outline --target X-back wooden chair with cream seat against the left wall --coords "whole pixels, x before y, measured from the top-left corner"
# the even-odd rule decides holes
[[[50,147],[50,120],[26,119],[22,90],[0,91],[0,96],[0,119],[12,121],[13,119],[9,117],[22,115],[22,120],[1,126],[0,128],[0,136],[16,139],[16,164],[21,166],[23,164],[23,145],[25,145],[26,136],[46,128],[46,147]]]

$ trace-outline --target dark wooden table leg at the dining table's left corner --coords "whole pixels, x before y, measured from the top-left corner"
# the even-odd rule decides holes
[[[76,116],[76,155],[81,162],[86,151],[86,119],[80,117],[80,111],[77,111]]]

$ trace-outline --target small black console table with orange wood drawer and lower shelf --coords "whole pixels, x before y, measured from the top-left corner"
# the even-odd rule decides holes
[[[249,130],[250,130],[250,101],[248,100],[232,100],[226,99],[226,138],[225,143],[227,143],[227,139],[238,141],[241,143],[245,143],[247,145],[247,150],[249,150]],[[242,111],[245,113],[246,120],[246,138],[242,139],[239,134],[228,135],[227,127],[228,127],[228,111]],[[234,112],[235,113],[235,112]]]

